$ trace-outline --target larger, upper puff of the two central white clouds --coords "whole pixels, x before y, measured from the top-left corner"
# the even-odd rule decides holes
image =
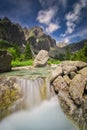
[[[50,8],[47,10],[41,10],[38,12],[37,20],[39,23],[49,24],[56,14],[57,9]]]

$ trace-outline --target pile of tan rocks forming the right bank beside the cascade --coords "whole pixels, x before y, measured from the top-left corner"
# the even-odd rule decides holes
[[[55,75],[51,85],[68,118],[80,130],[87,130],[87,63],[63,61],[60,66],[62,73]]]

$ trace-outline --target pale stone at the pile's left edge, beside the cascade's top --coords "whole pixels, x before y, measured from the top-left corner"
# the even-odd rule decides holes
[[[52,82],[55,78],[62,74],[62,68],[57,67],[56,69],[51,71],[50,81]]]

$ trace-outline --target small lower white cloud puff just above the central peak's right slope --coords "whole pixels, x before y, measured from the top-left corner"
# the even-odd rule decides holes
[[[57,29],[59,29],[60,26],[56,23],[50,23],[47,27],[46,27],[46,32],[47,33],[52,33],[54,31],[56,31]]]

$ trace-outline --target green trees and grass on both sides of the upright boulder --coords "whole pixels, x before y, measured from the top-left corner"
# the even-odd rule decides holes
[[[9,53],[11,53],[13,57],[12,67],[33,65],[33,56],[29,42],[27,42],[25,48],[21,50],[21,47],[16,43],[12,45],[8,41],[1,39],[0,49],[6,49]],[[60,55],[58,59],[48,60],[48,64],[59,64],[62,60],[80,60],[87,62],[87,42],[82,49],[73,54],[71,54],[69,48],[66,49],[65,55]]]

